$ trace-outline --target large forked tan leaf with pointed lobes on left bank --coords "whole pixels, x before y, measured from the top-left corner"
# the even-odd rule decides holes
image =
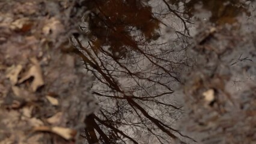
[[[37,91],[37,88],[44,85],[43,74],[41,72],[40,64],[38,63],[36,58],[30,59],[32,62],[32,67],[28,70],[28,72],[19,80],[18,83],[22,83],[25,80],[28,80],[30,77],[34,77],[33,82],[31,83],[32,91]]]

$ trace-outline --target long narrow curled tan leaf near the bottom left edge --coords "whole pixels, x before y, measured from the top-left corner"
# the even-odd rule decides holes
[[[66,140],[72,140],[75,138],[77,131],[71,128],[64,128],[64,127],[35,127],[34,131],[46,131],[50,133],[58,134],[59,136],[63,137]]]

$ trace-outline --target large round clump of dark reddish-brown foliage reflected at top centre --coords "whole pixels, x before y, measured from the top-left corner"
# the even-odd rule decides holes
[[[125,56],[128,48],[136,50],[144,38],[150,39],[159,28],[159,20],[152,16],[151,7],[139,1],[88,1],[91,13],[87,36],[94,49],[110,46],[117,57]]]

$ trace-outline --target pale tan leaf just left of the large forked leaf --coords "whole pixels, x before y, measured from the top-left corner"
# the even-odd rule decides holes
[[[22,65],[12,65],[11,67],[7,68],[6,77],[10,79],[11,84],[15,85],[18,81],[19,73],[22,70]]]

